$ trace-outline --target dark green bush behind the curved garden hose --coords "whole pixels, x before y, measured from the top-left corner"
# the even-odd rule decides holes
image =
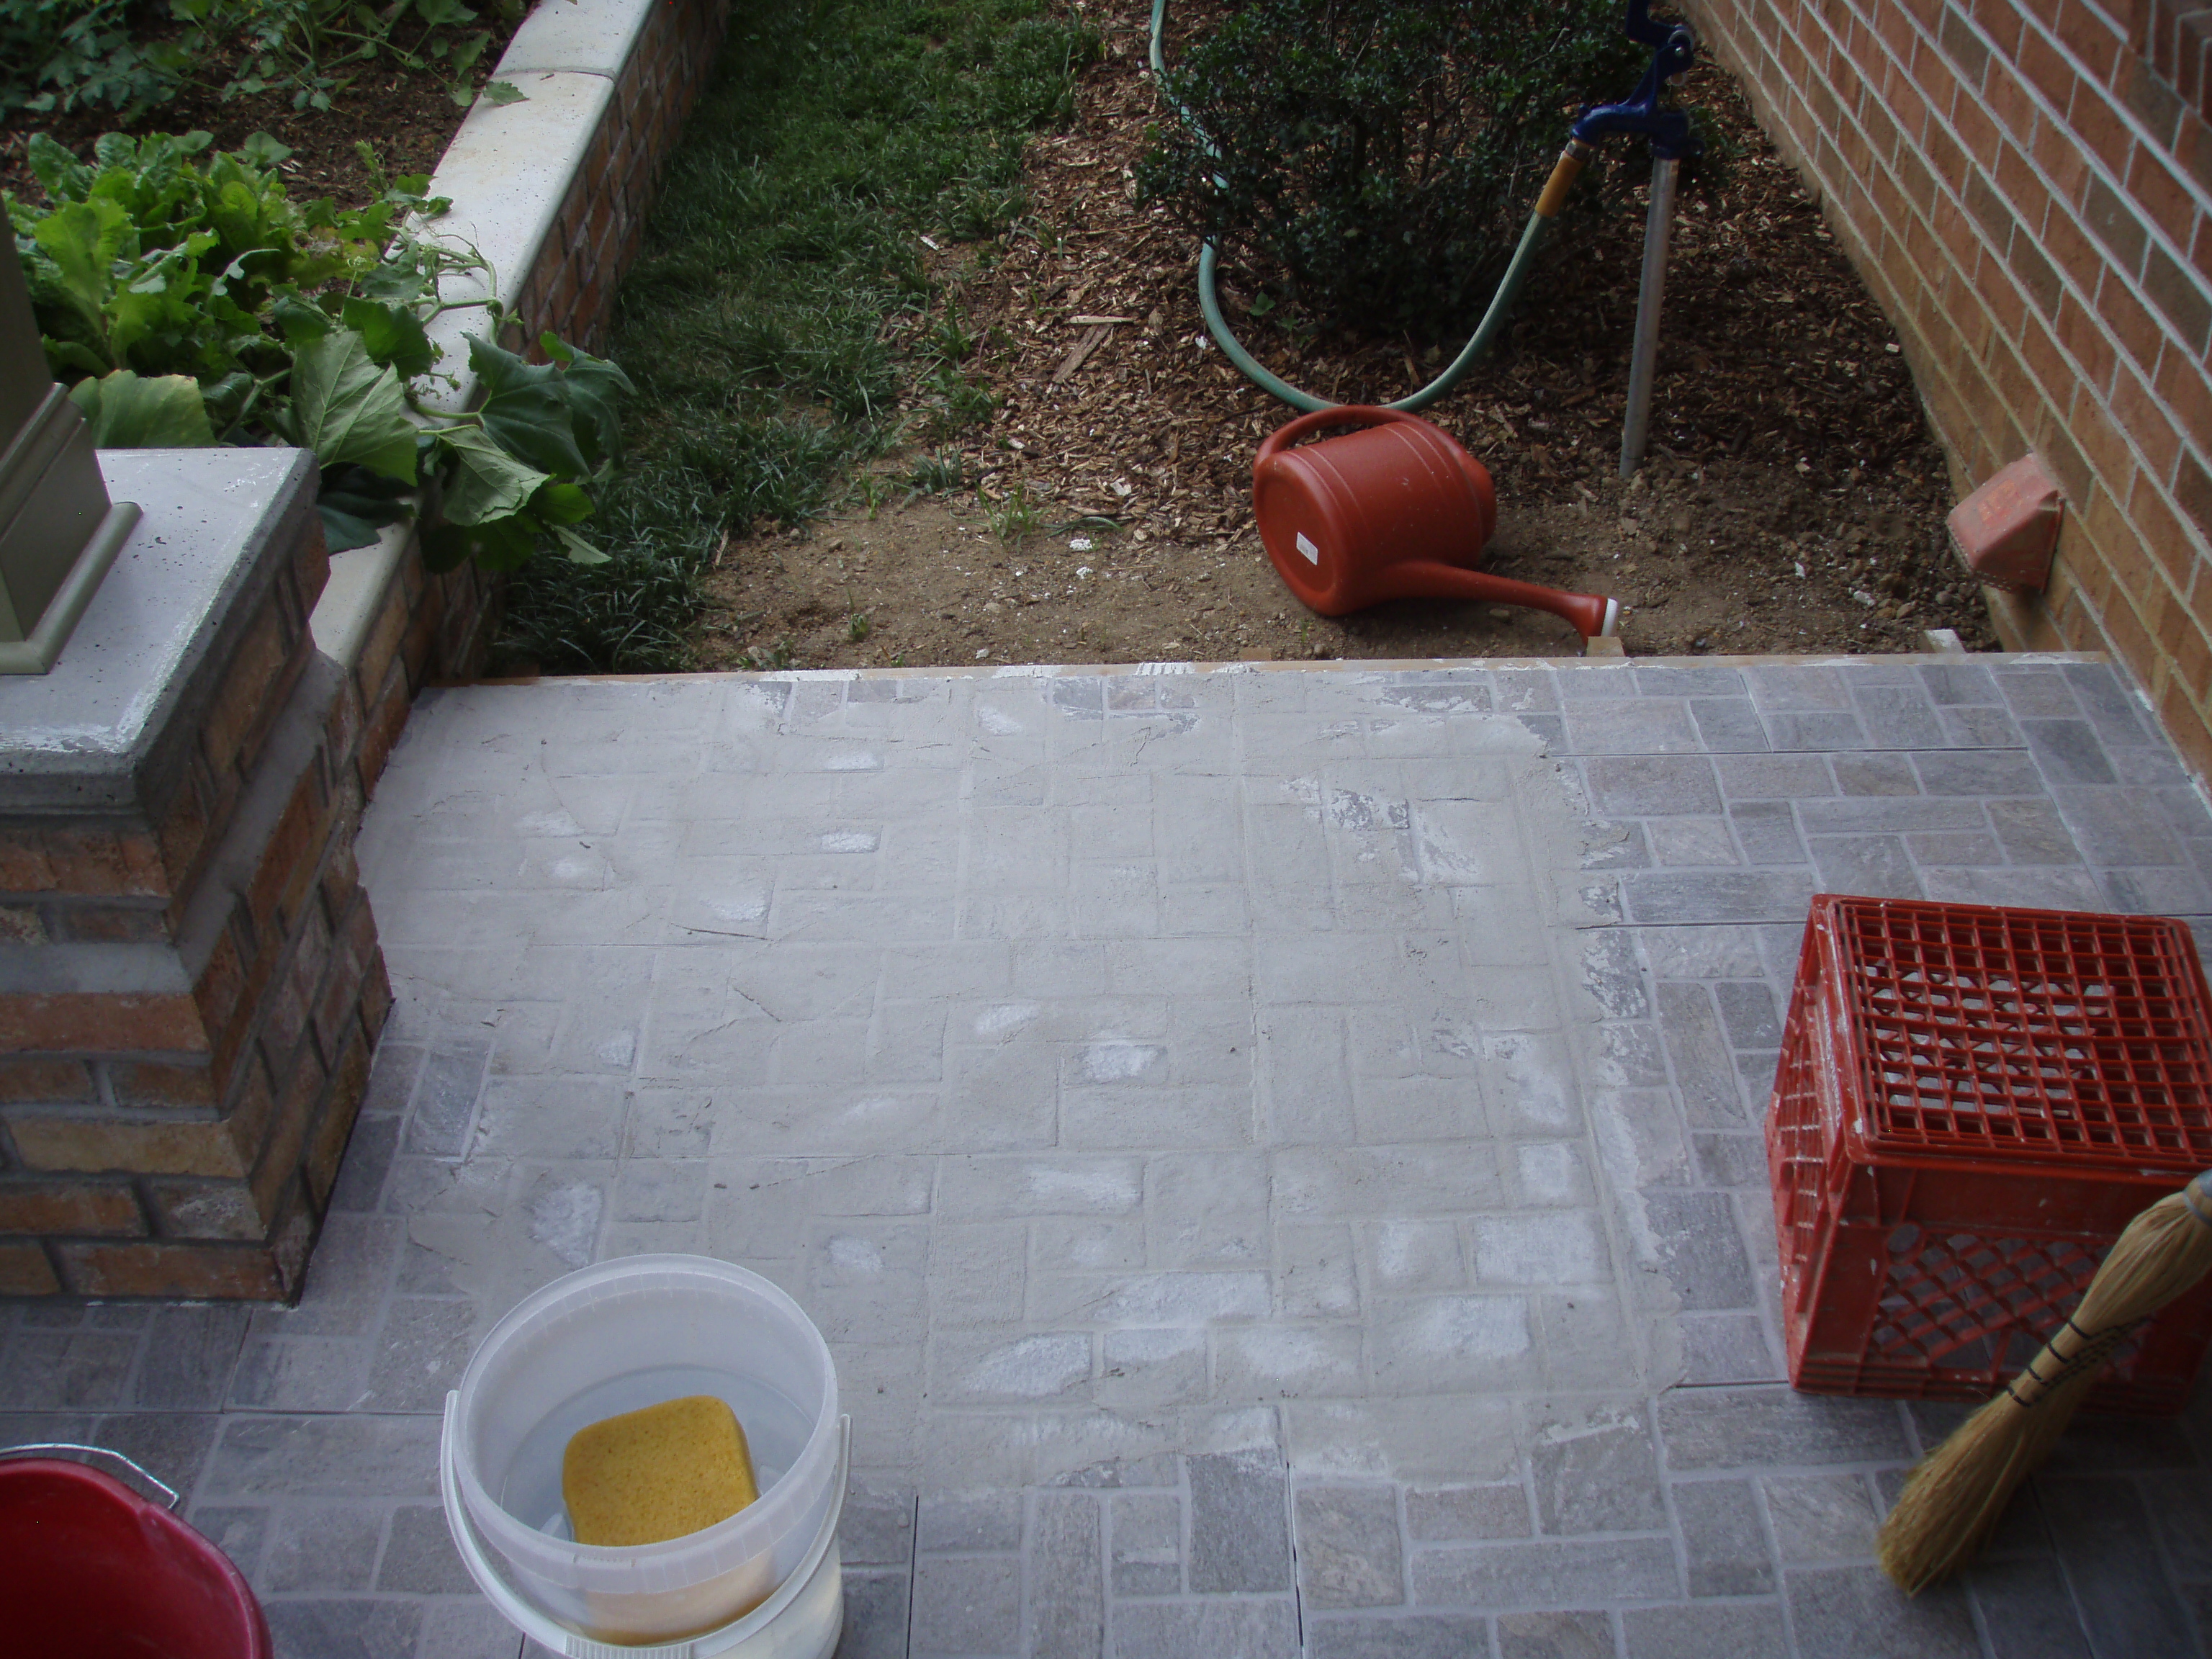
[[[1248,0],[1170,66],[1199,133],[1137,181],[1314,316],[1464,334],[1575,111],[1644,62],[1619,0]]]

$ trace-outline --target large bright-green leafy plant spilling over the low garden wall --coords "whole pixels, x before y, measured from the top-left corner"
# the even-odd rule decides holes
[[[332,551],[363,546],[438,487],[422,531],[431,568],[513,571],[542,546],[602,564],[577,529],[613,469],[628,376],[540,336],[546,363],[495,343],[495,296],[447,301],[442,281],[484,261],[425,234],[445,210],[420,177],[385,179],[369,208],[294,204],[254,137],[217,153],[206,133],[108,133],[84,164],[44,135],[31,168],[51,197],[7,197],[46,363],[106,447],[285,442],[321,462]],[[482,398],[440,414],[429,321],[487,312],[467,334]]]

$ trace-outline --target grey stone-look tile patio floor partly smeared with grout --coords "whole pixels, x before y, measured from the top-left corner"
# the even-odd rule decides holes
[[[0,1312],[285,1655],[513,1655],[473,1338],[706,1250],[830,1336],[849,1655],[2172,1655],[2212,1416],[2088,1422],[1964,1586],[1940,1411],[1781,1383],[1759,1117],[1816,889],[2212,916],[2088,659],[566,681],[422,699],[398,991],[296,1310]]]

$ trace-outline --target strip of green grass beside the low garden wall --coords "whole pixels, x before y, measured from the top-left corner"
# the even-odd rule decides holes
[[[1095,35],[1046,0],[761,0],[730,27],[617,303],[637,398],[586,526],[613,560],[518,573],[507,661],[684,668],[723,531],[821,513],[989,414],[920,237],[1011,230],[1024,135],[1073,113]]]

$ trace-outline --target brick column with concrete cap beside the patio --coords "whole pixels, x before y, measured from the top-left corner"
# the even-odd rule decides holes
[[[299,1290],[392,993],[296,451],[108,453],[146,509],[0,684],[0,1294]]]

